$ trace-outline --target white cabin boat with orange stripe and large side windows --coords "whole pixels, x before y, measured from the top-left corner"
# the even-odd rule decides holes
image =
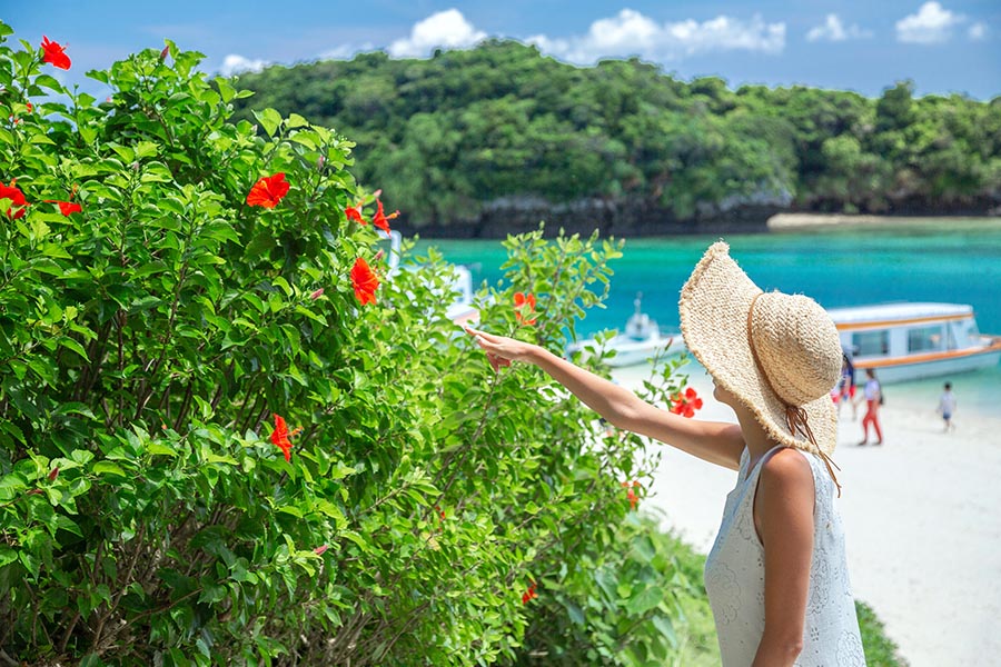
[[[973,307],[882,303],[827,310],[852,354],[856,381],[872,368],[881,382],[902,382],[995,366],[1001,337],[982,336]]]

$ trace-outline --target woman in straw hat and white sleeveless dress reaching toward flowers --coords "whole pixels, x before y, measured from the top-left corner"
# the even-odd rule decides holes
[[[834,323],[807,297],[763,292],[722,241],[695,267],[678,312],[737,424],[673,415],[539,346],[466,330],[495,371],[534,364],[616,428],[739,470],[705,564],[724,667],[864,666],[834,507]]]

